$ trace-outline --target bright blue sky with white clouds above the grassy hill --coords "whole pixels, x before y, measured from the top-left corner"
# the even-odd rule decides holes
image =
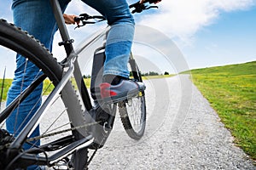
[[[137,1],[128,0],[128,3],[135,2]],[[0,18],[12,22],[10,3],[11,1],[0,0]],[[142,14],[135,14],[137,26],[148,26],[168,37],[183,54],[183,60],[189,69],[256,60],[256,0],[162,0],[158,6],[157,9],[153,8]],[[79,0],[73,0],[66,10],[67,14],[84,12],[97,14],[94,9]],[[70,37],[75,39],[74,46],[76,46],[96,29],[106,27],[106,23],[86,26],[79,31],[74,31],[74,26],[67,27]],[[154,38],[156,37],[148,37],[148,40]],[[57,34],[55,42],[60,40]],[[148,47],[139,49],[148,52],[150,51],[146,49]],[[53,53],[61,56],[63,54],[60,51],[55,45]],[[15,54],[0,48],[0,77],[3,75],[5,66],[9,71],[7,77],[12,77],[11,72],[15,68],[15,57],[6,59],[6,55],[14,56]],[[175,67],[176,64],[172,62],[170,65],[164,65],[166,62],[163,58],[165,57],[160,55],[165,54],[154,49],[150,53],[138,53],[138,55],[144,58],[148,56],[148,62],[144,62],[147,63],[144,65],[148,65],[148,69],[154,64],[158,68],[163,68],[160,71],[172,72],[172,69],[169,70],[168,67]],[[153,55],[158,62],[154,60]],[[147,67],[145,71],[148,71]]]

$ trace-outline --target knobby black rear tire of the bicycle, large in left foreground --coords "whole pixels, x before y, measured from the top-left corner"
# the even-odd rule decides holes
[[[19,27],[9,24],[6,20],[0,19],[0,46],[9,48],[18,54],[26,56],[26,59],[37,65],[44,72],[50,81],[56,86],[61,81],[62,68],[54,59],[49,50],[42,43],[22,31]],[[79,159],[83,155],[84,161]],[[84,169],[87,164],[87,149],[80,150],[74,154],[74,159],[79,160],[79,168]],[[86,155],[86,156],[84,156]],[[78,162],[78,161],[77,161]]]

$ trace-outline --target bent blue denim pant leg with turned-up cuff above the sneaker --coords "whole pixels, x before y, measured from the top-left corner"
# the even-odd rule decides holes
[[[134,35],[134,20],[126,0],[82,0],[104,15],[111,26],[103,75],[129,77],[127,68]]]

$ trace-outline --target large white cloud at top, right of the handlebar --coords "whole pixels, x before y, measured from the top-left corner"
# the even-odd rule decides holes
[[[234,10],[244,10],[253,6],[253,0],[163,0],[158,3],[155,14],[143,15],[138,24],[151,26],[188,42],[196,31],[211,25],[219,14]]]

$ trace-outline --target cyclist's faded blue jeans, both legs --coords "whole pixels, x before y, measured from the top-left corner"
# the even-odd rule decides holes
[[[106,61],[103,74],[113,74],[129,77],[127,62],[131,52],[131,42],[134,34],[134,20],[126,0],[82,0],[92,8],[96,8],[108,20],[111,29],[107,38]],[[64,12],[70,0],[59,0]],[[49,0],[13,0],[12,4],[15,25],[28,31],[44,43],[46,48],[52,49],[52,42],[57,30],[55,18],[51,12]],[[9,88],[7,105],[20,94],[20,86],[25,89],[41,73],[38,67],[27,62],[20,54],[16,56],[15,78]],[[26,71],[24,70],[26,68]],[[17,135],[20,129],[26,125],[33,114],[41,105],[41,84],[30,96],[21,103],[7,119],[9,133]],[[25,123],[24,123],[25,120]],[[20,128],[21,127],[21,128]],[[39,127],[35,129],[32,136],[39,135]],[[39,144],[35,142],[35,144]],[[24,149],[31,147],[25,144]]]

